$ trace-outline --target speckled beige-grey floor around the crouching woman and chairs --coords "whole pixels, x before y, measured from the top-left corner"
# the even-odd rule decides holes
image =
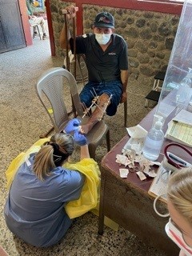
[[[46,249],[27,245],[7,229],[3,218],[3,206],[7,196],[5,170],[13,158],[22,150],[28,149],[38,140],[40,134],[50,128],[50,120],[36,96],[34,85],[44,70],[52,66],[62,66],[62,62],[61,58],[50,57],[49,40],[42,41],[39,38],[34,38],[34,46],[0,56],[0,245],[10,256],[163,256],[121,227],[118,231],[105,227],[104,234],[98,235],[98,217],[92,213],[76,219],[66,237],[57,245]],[[153,85],[150,80],[149,85],[144,85],[143,79],[129,82],[128,126],[136,125],[148,112],[144,107],[144,97]],[[126,134],[123,120],[122,105],[118,107],[118,113],[114,117],[106,117],[110,126],[111,146]],[[98,162],[101,162],[104,154],[105,142],[97,150]],[[0,255],[2,256],[1,253]]]

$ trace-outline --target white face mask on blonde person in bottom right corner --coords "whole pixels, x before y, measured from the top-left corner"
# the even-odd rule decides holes
[[[166,224],[166,234],[181,250],[183,250],[186,256],[192,255],[192,248],[185,242],[185,234],[182,234],[182,231],[178,229],[171,218]]]

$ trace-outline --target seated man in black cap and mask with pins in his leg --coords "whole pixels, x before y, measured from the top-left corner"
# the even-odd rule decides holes
[[[67,18],[75,16],[75,7],[66,8]],[[114,34],[114,17],[107,12],[96,16],[93,33],[78,36],[76,39],[76,53],[86,55],[86,65],[89,82],[82,89],[80,99],[83,105],[89,107],[94,96],[97,99],[89,122],[82,126],[81,132],[87,134],[95,123],[102,119],[103,112],[112,116],[116,113],[118,104],[126,101],[126,86],[128,82],[128,58],[125,40]],[[65,34],[65,24],[60,34],[60,46],[66,48],[70,43],[73,52],[74,38]]]

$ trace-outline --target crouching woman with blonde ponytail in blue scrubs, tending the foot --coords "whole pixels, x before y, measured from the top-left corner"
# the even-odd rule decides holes
[[[72,220],[66,214],[67,202],[80,197],[85,175],[62,167],[81,146],[81,159],[90,158],[86,137],[76,130],[54,134],[36,154],[31,154],[14,176],[4,209],[6,225],[12,233],[33,246],[57,243]]]

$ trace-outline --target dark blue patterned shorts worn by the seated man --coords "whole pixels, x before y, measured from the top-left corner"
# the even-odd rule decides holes
[[[88,82],[79,94],[81,102],[86,107],[89,107],[92,103],[95,93],[100,96],[102,94],[111,95],[110,105],[106,108],[106,114],[114,115],[117,112],[118,104],[122,97],[122,82],[110,81],[110,82]]]

